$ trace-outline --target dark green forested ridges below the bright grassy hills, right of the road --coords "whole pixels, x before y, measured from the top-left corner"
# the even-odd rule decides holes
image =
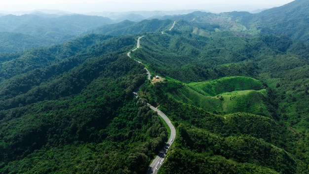
[[[268,108],[264,110],[268,116],[251,114],[254,109],[249,110],[246,103],[238,100],[235,102],[241,106],[238,111],[214,114],[210,107],[193,103],[199,100],[192,99],[195,96],[190,92],[183,93],[186,99],[175,97],[173,91],[183,89],[181,86],[167,81],[143,87],[148,93],[141,91],[150,102],[159,104],[178,130],[176,144],[160,173],[290,174],[306,168],[294,151],[300,138],[271,118]],[[207,105],[220,106],[220,99],[214,100],[218,102]]]

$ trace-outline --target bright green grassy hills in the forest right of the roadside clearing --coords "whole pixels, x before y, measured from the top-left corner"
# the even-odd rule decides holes
[[[270,116],[264,103],[266,89],[249,77],[225,77],[213,81],[185,84],[169,92],[178,101],[211,112],[229,114],[247,112]]]

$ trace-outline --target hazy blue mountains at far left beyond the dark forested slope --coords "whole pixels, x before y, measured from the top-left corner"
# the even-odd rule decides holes
[[[4,15],[0,17],[1,52],[60,44],[85,31],[111,24],[111,19],[86,15]]]

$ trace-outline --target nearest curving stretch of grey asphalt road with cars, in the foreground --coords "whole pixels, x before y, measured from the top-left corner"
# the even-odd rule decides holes
[[[174,142],[174,139],[176,137],[176,130],[175,130],[174,125],[171,123],[171,121],[167,118],[167,116],[163,112],[156,109],[154,106],[150,105],[149,103],[147,103],[147,105],[152,110],[157,112],[157,114],[166,122],[166,124],[171,130],[171,134],[167,140],[167,143],[161,149],[160,153],[155,157],[154,161],[151,163],[151,165],[148,168],[147,174],[156,174],[157,171],[160,169],[161,165],[164,163],[164,157],[166,155],[167,150],[170,148],[170,146]]]

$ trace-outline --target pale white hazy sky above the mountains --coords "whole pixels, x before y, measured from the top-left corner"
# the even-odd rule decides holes
[[[255,10],[293,0],[1,0],[0,11],[57,9],[76,13],[199,9],[210,12]]]

